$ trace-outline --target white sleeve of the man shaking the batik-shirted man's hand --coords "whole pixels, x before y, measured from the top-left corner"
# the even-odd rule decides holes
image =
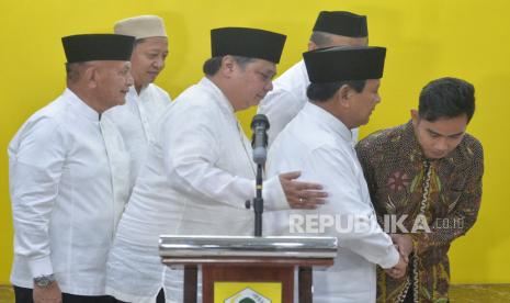
[[[358,177],[349,161],[351,158],[342,150],[325,147],[316,149],[305,162],[303,171],[307,173],[303,179],[329,184],[325,186],[328,201],[321,206],[322,210],[318,210],[319,214],[330,215],[343,223],[351,220],[352,226],[370,226],[359,229],[347,228],[347,225],[342,225],[345,228],[327,228],[328,234],[338,237],[340,247],[348,248],[383,268],[390,268],[398,262],[398,251],[390,237],[378,225],[372,206],[362,200]]]

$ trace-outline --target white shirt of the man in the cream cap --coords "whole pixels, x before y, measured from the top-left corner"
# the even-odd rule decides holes
[[[117,126],[129,152],[132,187],[145,162],[148,146],[155,143],[158,119],[171,104],[170,96],[155,83],[150,83],[143,88],[139,94],[135,87],[131,87],[126,94],[126,103],[104,113]]]

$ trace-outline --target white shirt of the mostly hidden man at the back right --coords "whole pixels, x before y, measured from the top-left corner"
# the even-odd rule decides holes
[[[258,110],[258,113],[268,116],[270,123],[269,145],[308,102],[306,90],[309,85],[310,80],[304,60],[292,66],[273,81],[273,90],[262,99]],[[351,132],[352,145],[355,145],[359,128],[353,128]]]

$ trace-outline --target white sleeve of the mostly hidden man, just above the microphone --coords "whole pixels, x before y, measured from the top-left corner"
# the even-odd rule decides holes
[[[270,127],[268,130],[268,142],[271,145],[277,134],[293,120],[303,109],[304,104],[294,92],[284,88],[275,87],[265,96],[259,104],[258,113],[265,114]]]

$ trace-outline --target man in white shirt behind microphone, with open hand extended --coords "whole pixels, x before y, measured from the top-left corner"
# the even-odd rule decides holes
[[[256,194],[252,149],[236,112],[272,89],[285,36],[263,30],[211,31],[205,77],[161,116],[156,144],[136,180],[107,262],[107,292],[126,302],[182,302],[182,271],[158,255],[161,234],[251,235]],[[268,209],[316,207],[320,186],[296,182],[299,172],[264,181]],[[306,202],[299,202],[305,197]],[[199,294],[200,295],[200,294]]]

